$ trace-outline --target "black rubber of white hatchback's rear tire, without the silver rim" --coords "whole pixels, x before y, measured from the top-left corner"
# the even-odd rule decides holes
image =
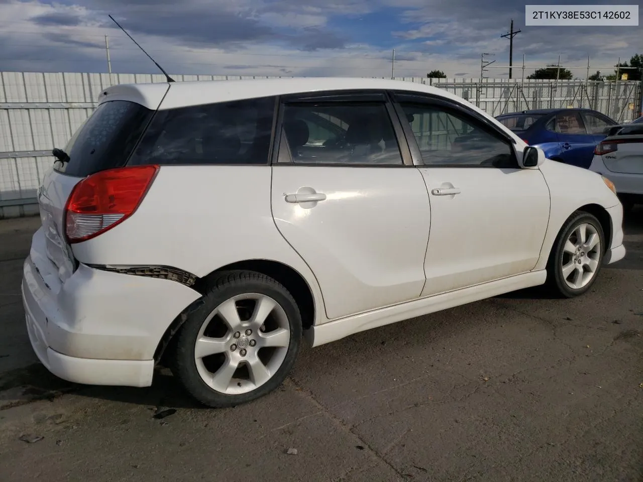
[[[264,384],[246,393],[222,393],[206,384],[199,374],[195,361],[195,343],[204,321],[215,308],[230,298],[246,293],[268,296],[283,308],[289,323],[289,344],[281,365]],[[232,407],[263,397],[282,384],[300,349],[302,320],[293,296],[277,281],[253,271],[226,271],[221,272],[210,283],[208,292],[203,296],[203,304],[188,316],[176,336],[172,371],[188,393],[209,407]],[[224,356],[228,355],[229,353],[226,353]]]

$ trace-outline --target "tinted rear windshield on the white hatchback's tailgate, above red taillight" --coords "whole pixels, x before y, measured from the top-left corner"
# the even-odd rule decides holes
[[[100,104],[64,148],[69,162],[57,162],[55,169],[85,177],[125,165],[153,112],[125,100]]]

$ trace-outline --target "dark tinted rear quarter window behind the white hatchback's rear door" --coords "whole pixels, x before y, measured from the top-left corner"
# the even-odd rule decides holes
[[[267,164],[275,97],[158,111],[129,165]]]

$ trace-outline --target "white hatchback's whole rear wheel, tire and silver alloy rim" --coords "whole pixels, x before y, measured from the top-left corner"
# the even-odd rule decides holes
[[[231,407],[284,381],[302,339],[293,296],[252,271],[222,272],[177,334],[174,372],[192,397]]]

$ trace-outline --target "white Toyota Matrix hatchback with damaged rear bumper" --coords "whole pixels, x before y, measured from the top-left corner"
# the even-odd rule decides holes
[[[39,189],[24,263],[35,353],[82,384],[159,362],[213,407],[311,346],[625,255],[601,175],[545,159],[453,94],[299,78],[116,85]]]

